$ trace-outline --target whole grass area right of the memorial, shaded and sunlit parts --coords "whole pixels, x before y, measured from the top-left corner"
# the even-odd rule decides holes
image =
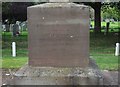
[[[119,59],[114,55],[116,42],[119,41],[115,33],[90,34],[90,56],[101,69],[118,70]]]

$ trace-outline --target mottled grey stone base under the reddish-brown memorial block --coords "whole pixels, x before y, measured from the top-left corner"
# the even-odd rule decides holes
[[[102,85],[103,76],[95,63],[89,67],[58,68],[24,66],[14,74],[10,85]]]

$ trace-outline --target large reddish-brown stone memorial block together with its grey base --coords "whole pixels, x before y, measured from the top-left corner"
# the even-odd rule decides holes
[[[89,9],[75,3],[28,7],[28,64],[11,85],[101,85],[89,58]]]

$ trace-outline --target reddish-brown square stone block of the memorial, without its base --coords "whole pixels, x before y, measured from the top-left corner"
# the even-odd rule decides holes
[[[74,3],[28,8],[29,65],[87,67],[89,9]]]

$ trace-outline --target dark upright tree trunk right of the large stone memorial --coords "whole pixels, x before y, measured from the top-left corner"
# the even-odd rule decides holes
[[[96,2],[95,10],[95,25],[94,25],[94,32],[100,33],[101,32],[101,2]]]

